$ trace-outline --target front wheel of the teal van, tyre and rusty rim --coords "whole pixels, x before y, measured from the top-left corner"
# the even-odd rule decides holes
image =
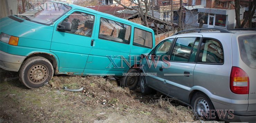
[[[53,65],[43,57],[31,57],[22,63],[20,80],[30,89],[44,86],[53,77]]]

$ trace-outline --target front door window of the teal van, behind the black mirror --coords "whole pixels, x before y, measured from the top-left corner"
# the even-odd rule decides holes
[[[63,21],[67,21],[72,24],[71,31],[65,32],[91,37],[94,23],[93,15],[82,12],[74,12]]]

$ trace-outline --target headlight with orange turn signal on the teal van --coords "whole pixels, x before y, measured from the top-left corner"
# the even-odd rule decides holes
[[[10,45],[18,45],[19,37],[11,36],[5,33],[0,34],[0,41],[8,43]]]

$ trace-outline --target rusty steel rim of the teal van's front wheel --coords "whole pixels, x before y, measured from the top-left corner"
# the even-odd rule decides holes
[[[48,69],[43,64],[36,64],[28,71],[28,78],[34,84],[41,84],[47,78]]]

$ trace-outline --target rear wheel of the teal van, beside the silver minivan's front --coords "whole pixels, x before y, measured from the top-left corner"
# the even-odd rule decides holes
[[[139,72],[136,70],[136,69],[129,69],[127,71],[127,73],[134,73],[134,74],[138,74]],[[120,84],[121,84],[121,87],[124,88],[124,87],[127,87],[129,88],[130,90],[134,90],[136,89],[137,87],[137,84],[139,82],[139,75],[135,75],[135,76],[124,76],[120,79]]]

